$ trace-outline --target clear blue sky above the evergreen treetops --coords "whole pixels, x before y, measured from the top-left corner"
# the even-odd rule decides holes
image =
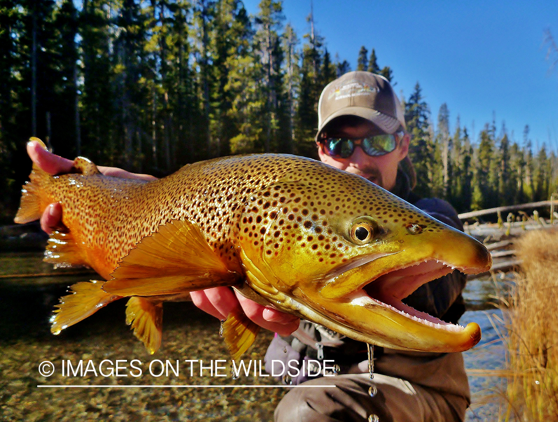
[[[258,3],[244,0],[252,14]],[[283,0],[283,12],[302,40],[310,0]],[[505,122],[522,145],[528,124],[533,148],[558,150],[558,68],[543,42],[547,28],[558,42],[558,1],[314,0],[314,23],[331,57],[353,70],[364,45],[405,98],[418,81],[432,121],[448,104],[452,132],[459,115],[476,137],[495,114],[497,133]]]

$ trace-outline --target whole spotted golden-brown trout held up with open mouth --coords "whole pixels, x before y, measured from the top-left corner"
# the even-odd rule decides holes
[[[71,286],[54,334],[128,297],[126,322],[154,353],[163,301],[232,286],[377,346],[456,352],[480,339],[475,323],[445,323],[401,300],[454,269],[487,271],[488,251],[360,176],[275,154],[198,162],[149,182],[105,176],[81,157],[74,170],[33,167],[15,218],[36,220],[60,202],[67,229],[50,236],[45,260],[107,280]],[[223,337],[235,359],[258,329],[241,311],[228,316]]]

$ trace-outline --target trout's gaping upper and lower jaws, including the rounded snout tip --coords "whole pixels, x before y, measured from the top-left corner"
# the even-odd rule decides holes
[[[402,299],[454,270],[487,271],[492,265],[490,253],[480,242],[449,227],[437,236],[426,234],[421,242],[422,248],[411,244],[405,250],[359,257],[330,274],[323,287],[301,284],[294,293],[324,316],[323,325],[348,337],[395,349],[465,351],[480,340],[478,324],[446,323],[403,304]]]

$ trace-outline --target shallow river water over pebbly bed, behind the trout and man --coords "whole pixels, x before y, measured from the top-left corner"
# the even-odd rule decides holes
[[[54,336],[49,318],[58,298],[67,286],[94,275],[71,268],[52,271],[41,257],[41,253],[0,253],[0,420],[272,419],[286,393],[283,387],[272,387],[276,381],[259,369],[272,333],[258,335],[243,357],[246,365],[253,364],[249,375],[241,373],[236,380],[230,375],[232,365],[218,321],[190,303],[165,304],[163,344],[153,356],[124,323],[125,304],[119,303],[123,301]],[[490,302],[505,285],[471,280],[465,292],[469,310],[461,323],[477,322],[483,330],[480,343],[464,353],[465,365],[473,373],[468,421],[497,419],[497,397],[505,384],[498,377],[479,376],[476,370],[504,367],[499,337],[504,315]],[[220,359],[223,362],[216,362]],[[45,361],[52,363],[54,374],[40,374],[40,368],[45,375],[49,372]],[[81,368],[79,362],[84,362]],[[259,387],[240,387],[249,385]]]

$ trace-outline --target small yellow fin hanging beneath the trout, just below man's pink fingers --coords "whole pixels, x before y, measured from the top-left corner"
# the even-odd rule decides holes
[[[259,328],[243,311],[235,309],[230,312],[223,323],[223,339],[235,361],[252,346]]]

